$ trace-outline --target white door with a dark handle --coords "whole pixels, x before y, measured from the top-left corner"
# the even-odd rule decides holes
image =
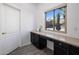
[[[20,45],[20,10],[0,5],[0,54],[8,54]]]

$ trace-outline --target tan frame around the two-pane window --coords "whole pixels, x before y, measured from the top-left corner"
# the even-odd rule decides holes
[[[53,11],[55,9],[63,8],[63,7],[66,8],[65,9],[65,19],[64,19],[64,21],[65,21],[65,31],[56,31],[55,27],[54,27],[54,30],[48,30],[47,27],[46,27],[46,18],[47,18],[46,13],[50,12],[50,11]],[[54,19],[55,19],[55,16],[54,16]],[[54,22],[54,25],[55,25],[55,22]],[[52,32],[59,32],[59,33],[67,33],[67,4],[60,4],[60,5],[56,6],[56,7],[54,7],[53,9],[48,10],[48,11],[45,12],[45,30],[52,31]]]

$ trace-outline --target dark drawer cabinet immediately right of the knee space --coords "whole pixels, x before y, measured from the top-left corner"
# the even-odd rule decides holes
[[[68,46],[62,42],[54,42],[54,55],[67,55]]]

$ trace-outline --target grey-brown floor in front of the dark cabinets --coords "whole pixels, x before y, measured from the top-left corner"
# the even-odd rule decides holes
[[[8,55],[53,55],[53,51],[48,48],[39,50],[31,44],[28,46],[19,47]]]

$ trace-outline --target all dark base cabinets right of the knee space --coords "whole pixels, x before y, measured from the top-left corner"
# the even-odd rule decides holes
[[[54,42],[54,55],[79,55],[79,47],[64,42]]]

